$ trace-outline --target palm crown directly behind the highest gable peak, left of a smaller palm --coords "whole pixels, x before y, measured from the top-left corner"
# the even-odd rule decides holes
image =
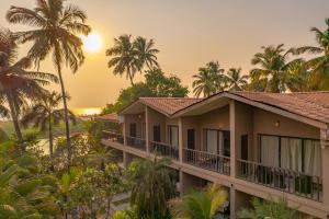
[[[206,67],[198,68],[198,73],[194,74],[195,79],[192,83],[193,92],[198,97],[209,96],[218,91],[223,91],[226,87],[224,69],[220,69],[218,61],[211,61]]]

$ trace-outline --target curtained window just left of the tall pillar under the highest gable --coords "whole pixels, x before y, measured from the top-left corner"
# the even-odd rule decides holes
[[[218,129],[205,129],[205,146],[209,153],[229,157],[230,154],[229,131]]]

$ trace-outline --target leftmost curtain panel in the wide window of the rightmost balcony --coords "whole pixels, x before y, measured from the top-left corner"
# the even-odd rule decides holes
[[[279,137],[261,136],[261,163],[279,168]]]

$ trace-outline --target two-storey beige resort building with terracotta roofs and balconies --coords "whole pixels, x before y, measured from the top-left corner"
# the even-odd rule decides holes
[[[215,182],[230,218],[252,197],[285,196],[329,218],[329,92],[220,92],[206,99],[140,97],[120,112],[103,145],[136,158],[169,157],[179,191]]]

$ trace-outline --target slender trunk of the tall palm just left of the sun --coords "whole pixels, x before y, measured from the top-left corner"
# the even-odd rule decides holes
[[[63,95],[63,105],[64,105],[64,119],[65,119],[65,127],[66,127],[66,147],[67,147],[67,169],[70,169],[71,164],[71,139],[70,139],[70,126],[68,119],[68,107],[67,107],[67,100],[66,100],[66,91],[64,87],[64,81],[61,77],[61,69],[58,67],[58,78],[60,83],[60,90]]]

